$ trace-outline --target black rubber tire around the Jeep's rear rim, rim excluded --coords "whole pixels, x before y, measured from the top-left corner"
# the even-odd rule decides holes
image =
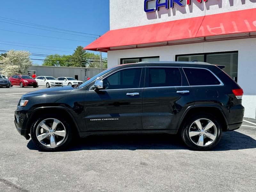
[[[208,119],[208,120],[212,121],[215,124],[215,126],[216,126],[216,130],[217,130],[216,134],[215,134],[216,135],[216,139],[213,140],[213,142],[211,144],[207,145],[207,146],[198,146],[189,137],[190,126],[193,124],[193,122],[195,122],[198,119]],[[180,133],[181,133],[181,137],[182,137],[183,141],[186,143],[186,145],[189,148],[196,149],[196,150],[201,150],[201,151],[210,150],[210,149],[214,148],[220,142],[221,134],[222,134],[221,122],[219,121],[218,118],[216,118],[212,114],[209,114],[209,113],[198,113],[198,114],[192,115],[192,116],[190,116],[190,117],[188,117],[186,119],[186,122],[184,123],[183,127],[181,128]],[[203,133],[204,132],[202,132],[202,134]],[[194,137],[192,137],[192,138],[194,138]],[[207,137],[205,137],[205,138],[207,138]]]

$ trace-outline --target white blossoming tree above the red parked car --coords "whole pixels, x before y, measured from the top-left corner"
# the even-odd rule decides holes
[[[28,51],[14,51],[7,52],[6,57],[1,57],[0,68],[1,74],[8,77],[13,74],[28,74],[28,68],[32,65],[29,58]]]

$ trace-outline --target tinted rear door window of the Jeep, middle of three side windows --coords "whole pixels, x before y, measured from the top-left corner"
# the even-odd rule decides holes
[[[181,86],[181,74],[179,68],[149,68],[149,87],[171,86]]]

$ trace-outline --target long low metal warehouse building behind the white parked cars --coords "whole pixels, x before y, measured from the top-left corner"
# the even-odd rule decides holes
[[[99,74],[100,68],[83,68],[83,67],[56,67],[56,66],[31,66],[29,75],[36,76],[53,76],[58,77],[74,77],[79,81],[86,81],[88,77]],[[102,70],[105,70],[104,68]]]

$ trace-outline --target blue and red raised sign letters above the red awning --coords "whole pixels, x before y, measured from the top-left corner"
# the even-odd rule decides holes
[[[148,9],[148,2],[149,1],[154,1],[154,0],[144,0],[144,11],[146,13],[149,12],[156,12],[159,11],[160,7],[165,7],[165,9],[173,8],[174,4],[179,5],[180,7],[185,6],[184,4],[181,3],[182,0],[165,0],[165,2],[160,3],[160,0],[156,0],[156,9]],[[207,2],[207,0],[196,0],[198,3],[202,2]],[[191,0],[187,0],[187,5],[191,4]]]

